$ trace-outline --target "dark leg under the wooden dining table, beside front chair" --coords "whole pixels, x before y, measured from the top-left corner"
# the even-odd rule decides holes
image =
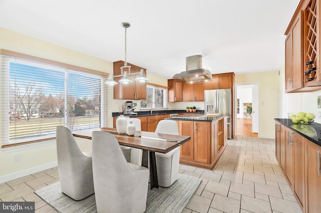
[[[148,168],[148,150],[142,151],[141,165]],[[157,168],[155,152],[149,151],[149,173],[150,173],[150,189],[158,188]]]

